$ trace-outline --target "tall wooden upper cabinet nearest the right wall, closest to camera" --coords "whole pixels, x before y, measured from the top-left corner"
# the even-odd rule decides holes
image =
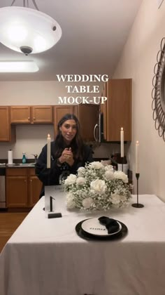
[[[108,99],[101,105],[103,132],[107,141],[120,141],[121,127],[124,141],[131,140],[131,79],[110,79],[103,89]]]

